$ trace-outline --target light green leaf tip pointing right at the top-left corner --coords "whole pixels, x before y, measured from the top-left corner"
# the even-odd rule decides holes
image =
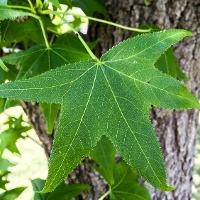
[[[0,5],[0,20],[15,19],[17,17],[31,16],[29,12],[14,10],[6,6]]]

